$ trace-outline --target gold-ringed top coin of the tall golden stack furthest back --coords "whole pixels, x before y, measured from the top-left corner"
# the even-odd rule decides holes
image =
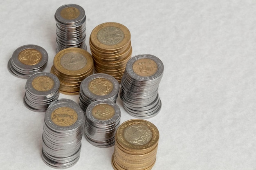
[[[117,22],[96,26],[90,35],[91,43],[102,51],[119,51],[130,42],[130,31]]]

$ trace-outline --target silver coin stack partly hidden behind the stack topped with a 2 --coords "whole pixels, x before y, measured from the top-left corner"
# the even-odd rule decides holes
[[[119,83],[111,75],[97,73],[85,78],[80,85],[79,106],[86,112],[89,104],[96,100],[117,101]]]

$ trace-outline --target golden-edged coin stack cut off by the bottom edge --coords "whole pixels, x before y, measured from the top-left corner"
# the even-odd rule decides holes
[[[119,126],[115,135],[112,166],[115,170],[151,170],[156,161],[159,131],[142,119]]]

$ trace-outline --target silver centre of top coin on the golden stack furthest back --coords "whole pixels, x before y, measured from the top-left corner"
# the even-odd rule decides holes
[[[115,26],[106,26],[97,33],[97,39],[102,44],[115,45],[124,40],[124,32]]]

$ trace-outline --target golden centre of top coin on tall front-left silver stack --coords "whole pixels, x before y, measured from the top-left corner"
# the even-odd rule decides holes
[[[71,126],[78,119],[78,115],[72,108],[60,107],[52,112],[51,119],[58,126]]]

